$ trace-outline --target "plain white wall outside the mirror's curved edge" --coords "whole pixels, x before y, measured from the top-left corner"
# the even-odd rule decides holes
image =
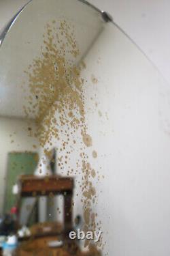
[[[89,0],[109,12],[170,83],[170,35],[167,0]]]

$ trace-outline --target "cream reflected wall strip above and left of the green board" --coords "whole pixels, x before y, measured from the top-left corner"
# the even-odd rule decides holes
[[[10,152],[24,152],[26,150],[37,152],[33,145],[37,145],[37,140],[29,136],[28,127],[32,132],[35,130],[33,121],[24,119],[14,119],[12,117],[0,117],[0,212],[3,212],[3,200],[5,193],[5,175],[7,171],[7,154]]]

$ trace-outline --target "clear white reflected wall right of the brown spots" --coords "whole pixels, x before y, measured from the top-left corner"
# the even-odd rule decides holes
[[[96,208],[105,252],[168,256],[169,85],[113,25],[103,31],[85,62],[86,76],[95,74],[99,80],[97,85],[87,83],[86,106],[94,109],[87,113],[88,130],[105,175],[97,185]],[[101,118],[90,103],[92,94]]]

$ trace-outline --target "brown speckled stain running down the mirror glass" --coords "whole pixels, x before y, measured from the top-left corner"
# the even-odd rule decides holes
[[[86,64],[83,61],[78,66],[73,64],[73,59],[79,54],[71,25],[65,20],[53,20],[46,26],[41,57],[33,59],[33,63],[25,70],[29,78],[30,93],[27,100],[30,104],[24,106],[24,112],[26,116],[35,115],[37,131],[32,136],[39,139],[39,145],[44,148],[47,156],[50,154],[50,147],[56,146],[54,140],[60,141],[57,149],[63,153],[61,158],[58,158],[61,173],[67,167],[67,175],[81,174],[82,182],[79,186],[82,195],[79,196],[82,196],[84,230],[99,231],[101,222],[97,222],[97,213],[92,210],[95,208],[92,205],[97,203],[94,180],[96,171],[88,162],[86,153],[86,148],[92,146],[92,137],[88,134],[86,124],[84,78],[81,77]],[[97,78],[92,75],[91,81],[96,84]],[[28,131],[32,132],[30,127]],[[69,160],[74,158],[79,140],[81,147],[76,162],[77,169],[72,169]],[[92,151],[91,155],[97,158],[96,151]],[[59,209],[57,211],[59,212]],[[86,245],[89,243],[86,241]],[[103,246],[102,239],[98,245]]]

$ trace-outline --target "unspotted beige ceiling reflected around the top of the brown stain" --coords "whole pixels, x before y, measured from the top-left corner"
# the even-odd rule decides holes
[[[54,20],[56,23],[66,20],[73,27],[80,53],[77,57],[65,56],[72,65],[78,65],[89,51],[109,17],[105,12],[84,3],[77,0],[71,0],[69,4],[67,0],[31,1],[3,30],[0,48],[1,116],[24,117],[22,106],[27,104],[24,94],[27,94],[28,82],[24,71],[35,57],[41,56],[48,24]],[[23,84],[24,94],[21,89]],[[34,119],[34,114],[29,118]]]

